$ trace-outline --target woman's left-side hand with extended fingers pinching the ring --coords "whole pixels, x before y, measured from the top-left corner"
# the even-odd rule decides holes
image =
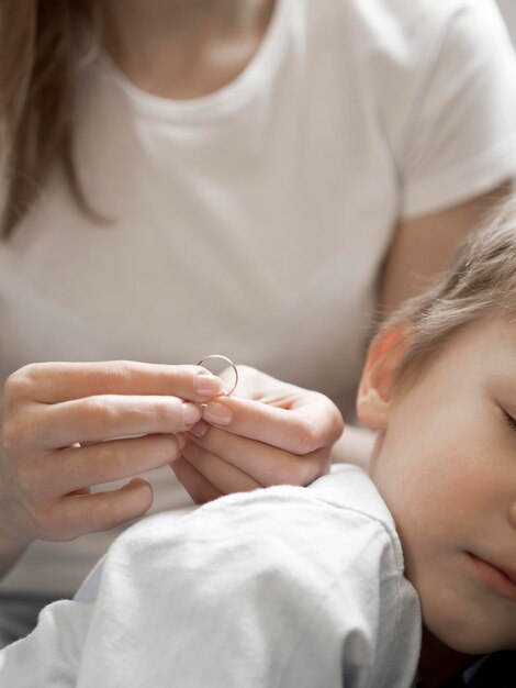
[[[44,363],[11,375],[0,559],[34,540],[71,540],[145,513],[153,490],[142,478],[108,492],[90,488],[170,464],[184,444],[177,433],[201,418],[195,404],[221,390],[220,378],[191,365]]]

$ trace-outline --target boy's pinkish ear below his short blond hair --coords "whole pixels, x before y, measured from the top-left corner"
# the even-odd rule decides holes
[[[408,325],[382,330],[371,342],[357,396],[360,422],[384,430],[400,365],[411,341]]]

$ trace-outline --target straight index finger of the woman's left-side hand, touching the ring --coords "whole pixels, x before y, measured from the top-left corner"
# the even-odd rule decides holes
[[[31,364],[5,385],[5,401],[24,397],[60,403],[99,395],[173,396],[201,401],[223,390],[222,380],[203,367],[134,360]]]

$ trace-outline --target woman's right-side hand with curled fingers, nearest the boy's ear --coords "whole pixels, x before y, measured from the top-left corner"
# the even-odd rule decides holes
[[[307,485],[328,471],[343,432],[343,418],[324,395],[247,366],[238,366],[238,375],[235,395],[205,406],[172,463],[200,503],[263,486]]]

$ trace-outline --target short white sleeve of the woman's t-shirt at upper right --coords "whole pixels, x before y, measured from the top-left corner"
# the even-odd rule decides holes
[[[494,0],[459,3],[431,45],[401,122],[403,217],[470,200],[516,175],[516,57]]]

